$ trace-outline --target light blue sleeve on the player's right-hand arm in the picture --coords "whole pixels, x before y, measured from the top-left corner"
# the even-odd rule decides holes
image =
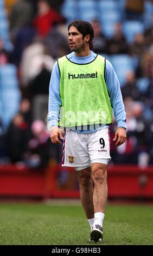
[[[105,81],[118,127],[126,129],[126,113],[120,91],[120,84],[112,64],[106,59]]]

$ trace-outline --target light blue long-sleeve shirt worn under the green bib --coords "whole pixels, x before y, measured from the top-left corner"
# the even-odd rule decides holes
[[[91,51],[91,54],[86,57],[76,57],[74,52],[67,55],[67,58],[71,62],[78,64],[86,64],[92,62],[97,54]],[[105,82],[106,87],[110,96],[111,106],[114,111],[114,117],[116,118],[118,127],[125,127],[126,129],[126,113],[124,109],[122,94],[120,92],[120,85],[116,75],[116,72],[113,69],[113,66],[106,59],[105,65]],[[50,78],[49,84],[49,103],[48,103],[48,128],[52,126],[58,126],[58,121],[60,120],[60,106],[62,105],[60,98],[60,71],[58,62],[54,64],[52,70],[52,76]],[[99,129],[103,129],[106,125],[101,126]],[[95,130],[85,130],[77,132],[93,132]]]

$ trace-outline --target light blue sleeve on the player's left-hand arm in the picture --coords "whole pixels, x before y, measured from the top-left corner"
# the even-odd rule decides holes
[[[52,126],[58,126],[61,105],[60,71],[58,62],[55,62],[49,83],[48,129],[50,129]]]

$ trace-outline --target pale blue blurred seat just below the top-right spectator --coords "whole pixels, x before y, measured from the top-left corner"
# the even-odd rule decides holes
[[[123,33],[127,42],[132,43],[135,35],[144,32],[144,24],[140,21],[125,21],[123,24]]]

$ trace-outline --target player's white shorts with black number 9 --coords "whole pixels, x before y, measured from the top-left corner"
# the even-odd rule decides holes
[[[107,164],[111,160],[109,129],[90,133],[65,130],[62,149],[62,166],[80,170],[91,166],[91,163]]]

